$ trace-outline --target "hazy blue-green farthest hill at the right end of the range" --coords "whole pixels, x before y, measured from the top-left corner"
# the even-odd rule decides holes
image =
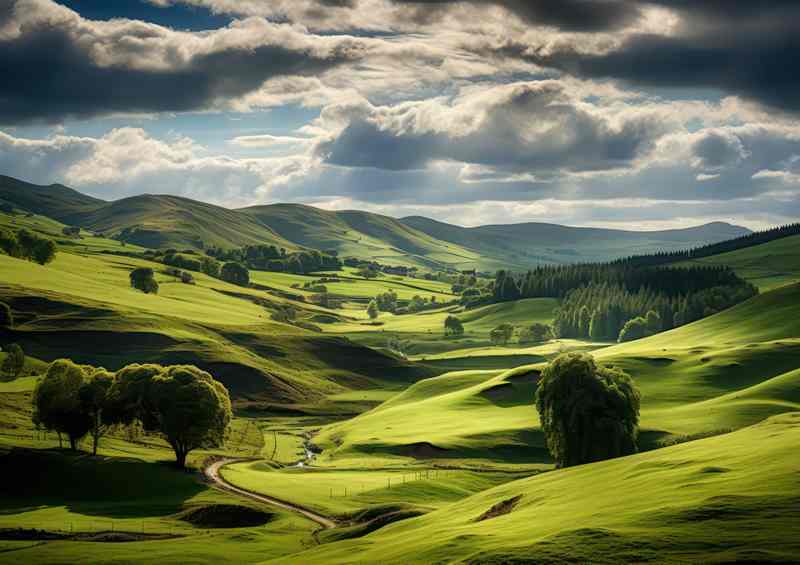
[[[482,256],[502,258],[507,266],[517,268],[537,263],[609,261],[628,255],[696,247],[750,233],[747,228],[724,222],[637,232],[545,223],[464,228],[420,216],[400,221],[438,240],[463,246]]]

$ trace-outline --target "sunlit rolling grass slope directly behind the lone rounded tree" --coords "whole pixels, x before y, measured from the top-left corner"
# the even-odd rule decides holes
[[[641,447],[737,429],[800,410],[800,285],[651,338],[595,351],[642,392]],[[417,383],[323,430],[321,461],[376,456],[545,463],[533,406],[538,369],[463,371]],[[423,447],[424,449],[420,449]],[[434,449],[432,449],[432,448]]]

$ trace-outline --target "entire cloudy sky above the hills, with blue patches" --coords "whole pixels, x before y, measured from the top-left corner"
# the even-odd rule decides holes
[[[796,0],[0,0],[0,174],[473,226],[800,217]]]

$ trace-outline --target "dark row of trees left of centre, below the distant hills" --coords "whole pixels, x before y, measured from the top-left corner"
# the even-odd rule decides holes
[[[237,261],[259,271],[304,274],[342,268],[338,257],[316,249],[287,253],[286,249],[274,245],[247,245],[231,250],[208,249],[206,253],[220,261]]]

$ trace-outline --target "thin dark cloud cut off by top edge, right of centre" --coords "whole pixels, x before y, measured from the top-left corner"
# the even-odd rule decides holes
[[[607,31],[635,22],[639,7],[625,0],[392,0],[435,17],[456,4],[500,6],[534,25],[565,31]]]

